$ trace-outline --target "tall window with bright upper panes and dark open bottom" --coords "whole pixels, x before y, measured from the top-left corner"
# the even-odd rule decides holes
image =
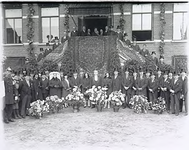
[[[137,41],[152,40],[151,4],[133,5],[132,12],[132,37]]]

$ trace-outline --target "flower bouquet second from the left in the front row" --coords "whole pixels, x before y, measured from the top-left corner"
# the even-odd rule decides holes
[[[57,95],[55,95],[47,97],[46,102],[49,104],[50,111],[55,113],[63,109],[65,100],[64,98],[60,99]]]

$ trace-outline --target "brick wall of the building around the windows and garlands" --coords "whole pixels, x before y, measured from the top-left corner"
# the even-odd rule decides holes
[[[159,11],[160,11],[160,4],[159,3],[153,3],[152,4],[152,30],[153,30],[153,40],[159,40],[160,37],[160,18],[159,18]],[[40,43],[41,39],[41,22],[40,22],[40,7],[37,4],[34,4],[35,9],[35,17],[34,18],[34,26],[35,26],[35,35],[34,35],[34,42]],[[171,13],[173,9],[172,3],[166,3],[166,11],[169,11],[165,14],[165,40],[170,40],[170,42],[165,43],[165,62],[168,64],[171,64],[172,56],[173,55],[183,55],[186,54],[186,42],[172,42],[172,36],[173,36],[173,14]],[[126,13],[124,15],[124,19],[126,20],[125,24],[125,31],[128,33],[129,38],[132,37],[132,5],[127,3],[124,4],[124,12]],[[59,6],[59,12],[60,12],[60,39],[64,34],[64,21],[65,21],[65,4],[60,4]],[[156,12],[156,13],[154,13]],[[27,16],[28,13],[28,6],[27,4],[23,5],[23,16]],[[119,4],[115,3],[113,5],[113,13],[115,14],[113,16],[113,25],[114,29],[116,29],[117,25],[119,25],[119,19],[120,19],[120,10],[119,10]],[[76,21],[76,24],[78,24],[78,15],[73,16],[74,20]],[[27,43],[27,18],[23,18],[23,43]],[[70,30],[72,30],[73,26],[75,26],[72,18],[70,18]],[[146,43],[148,46],[149,51],[156,51],[157,56],[159,57],[159,42],[158,41],[151,41],[151,42],[139,42],[140,47],[142,47],[142,44]],[[46,48],[45,45],[41,44],[35,44],[35,52],[39,53],[39,49],[43,47]],[[27,45],[6,45],[4,46],[4,55],[7,57],[27,57]]]

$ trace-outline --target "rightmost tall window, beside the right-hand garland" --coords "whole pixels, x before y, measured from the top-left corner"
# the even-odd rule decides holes
[[[187,39],[187,17],[188,4],[175,3],[173,13],[173,40]]]

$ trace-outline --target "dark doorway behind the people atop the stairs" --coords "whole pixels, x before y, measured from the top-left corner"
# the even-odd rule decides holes
[[[105,26],[108,25],[108,17],[85,17],[84,25],[86,26],[86,29],[91,30],[91,33],[94,31],[94,28],[97,28],[98,31],[100,31],[100,29],[105,30]]]

